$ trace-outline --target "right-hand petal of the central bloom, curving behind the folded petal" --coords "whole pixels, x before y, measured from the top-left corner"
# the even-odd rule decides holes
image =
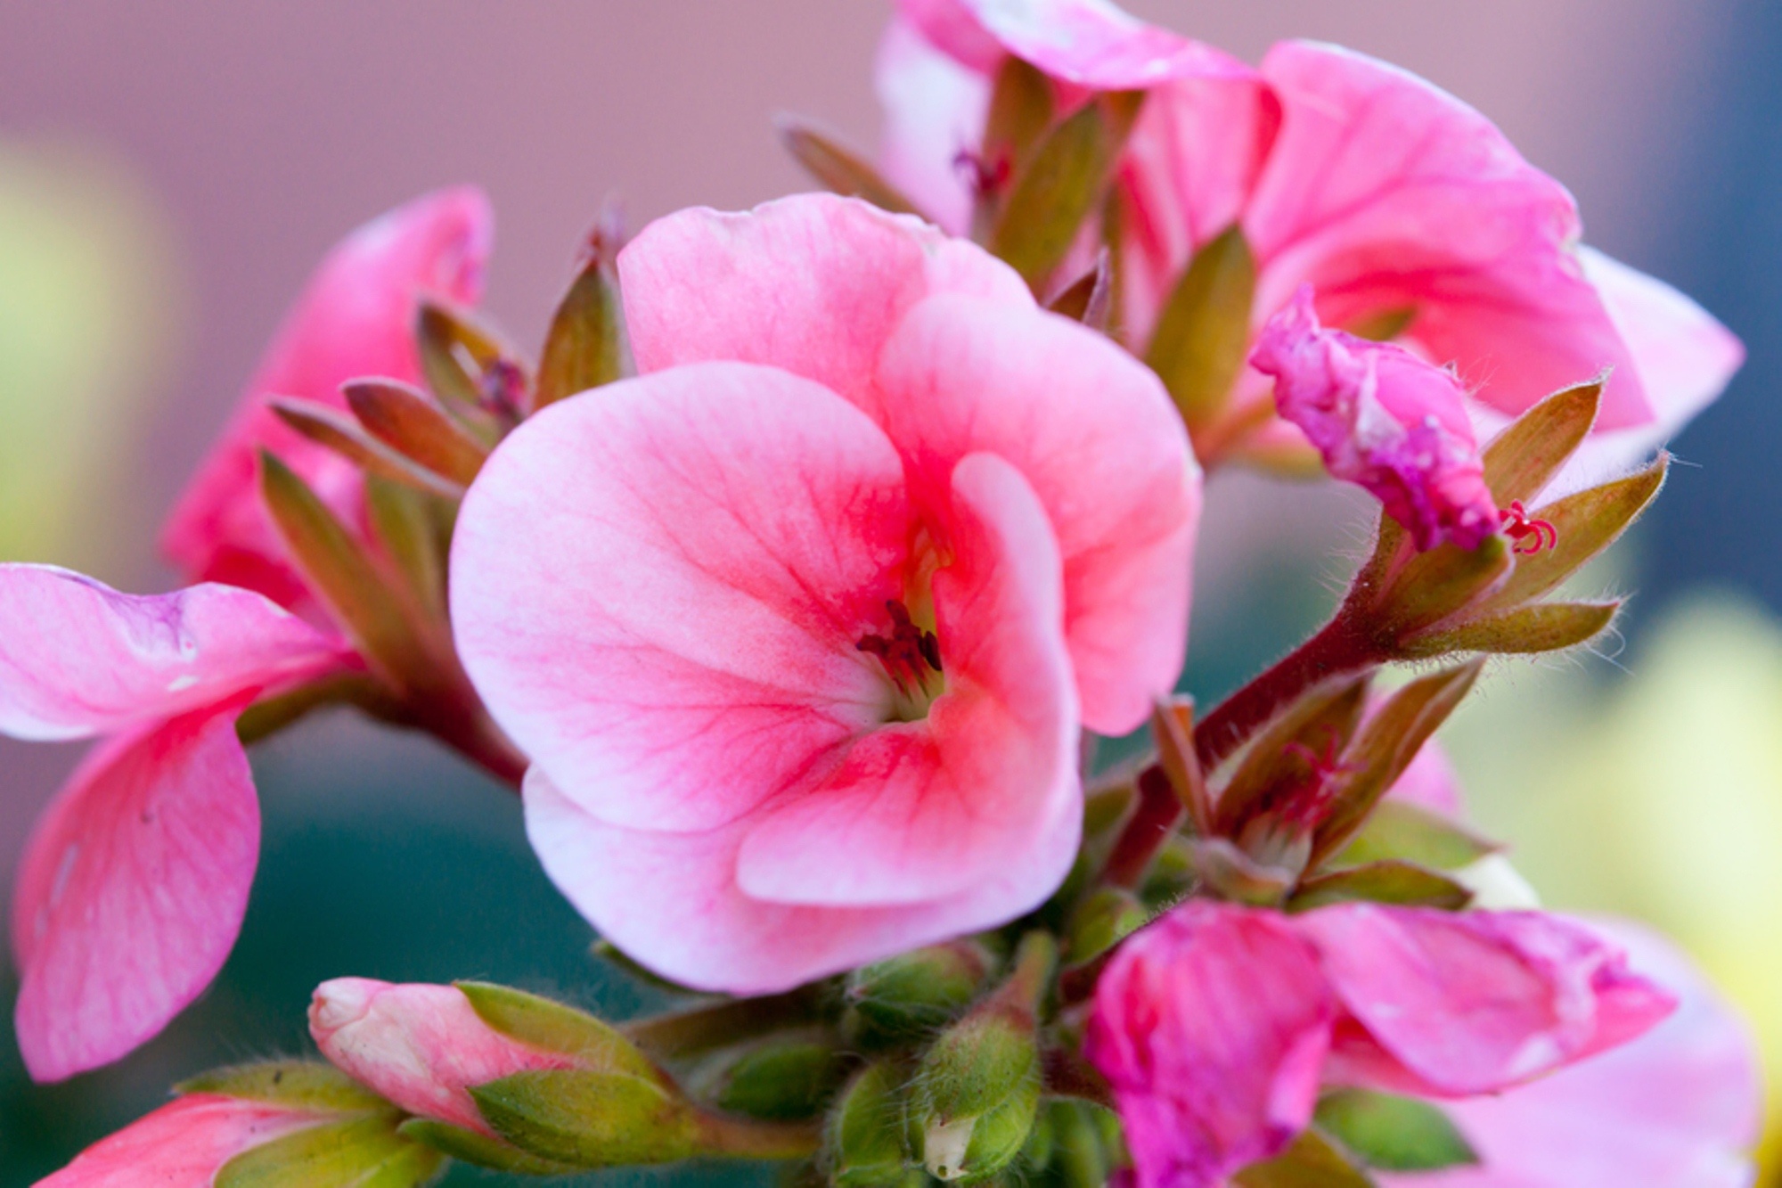
[[[1064,555],[1083,722],[1139,726],[1181,672],[1199,467],[1157,376],[1107,337],[982,298],[914,307],[879,366],[912,491],[996,453],[1032,483]]]

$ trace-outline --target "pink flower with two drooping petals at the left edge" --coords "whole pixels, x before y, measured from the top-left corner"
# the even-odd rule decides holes
[[[249,590],[137,598],[0,565],[0,731],[103,737],[37,821],[14,887],[32,1077],[118,1060],[221,969],[260,846],[235,717],[340,664],[337,640]]]

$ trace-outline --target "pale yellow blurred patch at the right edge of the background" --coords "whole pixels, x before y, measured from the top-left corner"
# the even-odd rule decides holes
[[[1625,664],[1502,664],[1445,742],[1479,824],[1543,901],[1682,942],[1782,1085],[1782,626],[1698,594]],[[1782,1183],[1773,1099],[1764,1149],[1762,1183]]]

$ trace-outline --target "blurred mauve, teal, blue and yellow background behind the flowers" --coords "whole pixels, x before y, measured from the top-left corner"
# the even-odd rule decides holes
[[[1572,186],[1597,246],[1745,337],[1745,373],[1677,442],[1689,466],[1591,578],[1636,592],[1622,639],[1500,665],[1447,742],[1483,826],[1549,903],[1682,938],[1782,1070],[1782,5],[1128,7],[1251,59],[1312,36],[1433,78]],[[166,589],[160,516],[344,232],[442,184],[485,186],[501,219],[488,309],[536,342],[608,196],[638,227],[804,187],[777,111],[873,144],[887,12],[0,0],[0,558]],[[1187,687],[1205,703],[1313,626],[1367,523],[1329,491],[1222,478]],[[0,887],[75,756],[0,740]],[[157,1042],[61,1086],[30,1086],[0,1033],[0,1188],[153,1108],[173,1079],[305,1051],[308,992],[330,976],[492,978],[609,1013],[647,1006],[588,958],[513,799],[454,760],[333,717],[257,749],[255,767],[266,846],[223,978]],[[7,1008],[12,986],[5,969]]]

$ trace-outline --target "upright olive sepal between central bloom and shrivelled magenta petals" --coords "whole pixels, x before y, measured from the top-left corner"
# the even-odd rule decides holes
[[[1238,225],[1201,244],[1164,300],[1144,360],[1189,428],[1203,428],[1224,410],[1249,355],[1255,300],[1256,257]]]

